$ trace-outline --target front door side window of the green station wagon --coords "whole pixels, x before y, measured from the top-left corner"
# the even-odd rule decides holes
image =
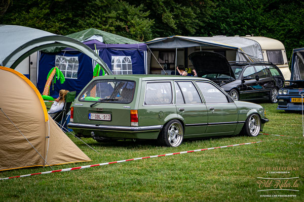
[[[203,93],[205,102],[208,103],[229,103],[226,95],[211,83],[196,82]]]

